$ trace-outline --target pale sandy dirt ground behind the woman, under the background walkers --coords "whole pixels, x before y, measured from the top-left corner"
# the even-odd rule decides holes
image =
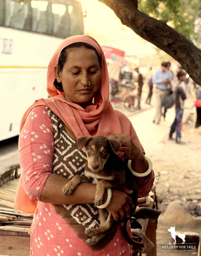
[[[142,98],[143,94],[142,94]],[[199,225],[186,225],[184,219],[180,216],[173,216],[172,223],[168,223],[166,218],[166,210],[168,206],[180,200],[186,207],[185,212],[181,215],[186,215],[187,219],[192,217],[196,223],[197,218],[201,218],[201,126],[195,127],[195,109],[192,108],[195,98],[189,97],[186,100],[186,108],[184,109],[183,125],[182,125],[182,141],[186,142],[184,145],[178,145],[175,141],[169,141],[169,129],[175,116],[175,109],[168,109],[166,120],[162,120],[160,125],[152,123],[154,115],[154,98],[153,104],[150,106],[144,103],[142,99],[141,109],[139,113],[132,115],[119,108],[131,120],[140,142],[142,143],[146,155],[153,163],[155,173],[159,173],[159,181],[156,185],[156,195],[158,201],[158,210],[162,214],[158,218],[157,223],[157,256],[169,256],[179,254],[180,256],[197,255],[197,248],[192,250],[185,250],[185,252],[164,251],[162,244],[167,245],[173,243],[171,234],[167,231],[172,226],[175,226],[176,231],[197,232],[200,234],[201,221]],[[174,135],[175,136],[175,135]],[[168,209],[169,215],[175,214],[174,209]],[[200,219],[201,220],[201,219]],[[195,224],[194,223],[194,224]],[[172,244],[171,244],[172,245]],[[173,245],[174,246],[174,245]],[[198,246],[198,244],[197,244]],[[166,249],[168,250],[168,249]],[[144,254],[143,254],[144,255]],[[153,255],[155,256],[155,255]]]

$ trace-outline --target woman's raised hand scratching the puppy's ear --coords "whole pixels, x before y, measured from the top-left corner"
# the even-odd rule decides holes
[[[144,158],[143,152],[132,140],[128,133],[115,133],[110,135],[109,138],[117,140],[122,144],[119,151],[124,152],[126,154],[127,157],[125,158],[129,158],[134,162],[142,161],[142,159]]]

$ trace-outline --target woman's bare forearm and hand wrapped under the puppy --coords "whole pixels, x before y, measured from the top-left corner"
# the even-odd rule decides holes
[[[71,195],[62,195],[61,189],[69,182],[66,179],[57,174],[51,174],[46,181],[46,184],[41,193],[41,201],[50,202],[52,204],[93,204],[96,184],[81,183],[73,191]],[[125,215],[129,217],[130,207],[134,207],[132,199],[127,195],[132,192],[127,189],[125,193],[119,190],[112,189],[112,198],[107,210],[112,213],[114,220],[123,219]],[[107,191],[105,191],[105,201],[108,197]]]

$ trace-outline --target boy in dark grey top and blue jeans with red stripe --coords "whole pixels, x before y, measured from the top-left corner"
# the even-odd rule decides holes
[[[182,88],[181,83],[185,81],[186,74],[183,71],[179,71],[177,73],[177,78],[178,78],[178,84],[174,92],[176,116],[170,128],[169,140],[173,140],[172,134],[176,131],[176,143],[185,144],[184,142],[181,142],[181,127],[182,127],[184,100],[186,99],[186,94]]]

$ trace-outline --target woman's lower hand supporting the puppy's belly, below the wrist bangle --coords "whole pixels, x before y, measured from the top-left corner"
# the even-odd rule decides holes
[[[106,209],[112,214],[115,221],[130,216],[130,208],[134,207],[132,199],[127,195],[132,191],[125,189],[123,191],[112,189],[112,198]]]

